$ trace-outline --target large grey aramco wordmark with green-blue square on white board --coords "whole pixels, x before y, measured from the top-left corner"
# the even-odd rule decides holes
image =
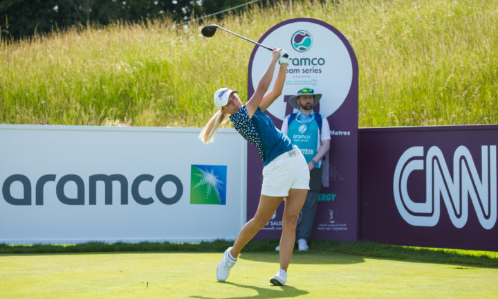
[[[190,203],[225,205],[226,181],[226,165],[191,165]],[[3,199],[14,206],[32,206],[33,203],[43,206],[44,197],[70,206],[86,203],[93,206],[98,201],[112,205],[116,203],[113,199],[127,205],[130,191],[131,199],[140,205],[150,205],[156,199],[172,205],[183,196],[183,183],[174,174],[165,174],[159,179],[151,174],[135,178],[124,174],[91,174],[88,179],[77,174],[44,174],[36,181],[24,174],[12,174],[3,184],[0,181],[0,187]],[[116,196],[113,192],[117,192]]]

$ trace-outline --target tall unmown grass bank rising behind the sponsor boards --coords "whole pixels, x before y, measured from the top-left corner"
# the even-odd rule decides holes
[[[498,0],[293,1],[292,10],[282,1],[219,25],[259,39],[294,17],[326,21],[351,42],[360,127],[498,123]],[[174,25],[0,42],[0,123],[203,127],[219,87],[247,98],[252,45]]]

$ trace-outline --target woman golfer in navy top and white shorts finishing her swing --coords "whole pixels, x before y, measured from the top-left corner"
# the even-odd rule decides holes
[[[284,198],[286,201],[279,244],[280,269],[270,282],[284,285],[287,281],[287,267],[294,249],[297,218],[309,189],[309,170],[299,149],[263,113],[282,93],[288,66],[288,57],[284,57],[284,53],[282,49],[273,49],[270,64],[246,105],[242,105],[237,91],[228,88],[216,91],[214,104],[220,110],[214,114],[199,135],[203,143],[212,142],[216,130],[223,120],[230,116],[239,134],[257,147],[264,166],[261,196],[256,214],[243,226],[234,245],[223,253],[216,269],[216,278],[219,281],[228,278],[230,269],[237,262],[242,248],[270,221]],[[273,89],[266,93],[272,82],[277,60],[280,64],[277,78]]]

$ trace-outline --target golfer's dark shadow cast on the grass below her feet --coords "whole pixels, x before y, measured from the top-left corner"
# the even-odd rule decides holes
[[[308,291],[303,291],[300,289],[296,289],[295,287],[291,287],[289,285],[285,286],[271,286],[269,288],[255,287],[252,285],[244,285],[237,284],[234,282],[219,282],[220,284],[231,284],[235,287],[241,287],[243,289],[253,289],[257,291],[257,295],[248,297],[248,296],[237,296],[237,297],[228,297],[224,299],[244,299],[244,298],[293,298],[302,295],[307,295]],[[199,299],[218,299],[219,297],[204,297],[204,296],[190,296],[190,298],[199,298]]]

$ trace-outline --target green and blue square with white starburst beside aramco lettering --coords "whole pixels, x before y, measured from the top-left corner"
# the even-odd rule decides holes
[[[226,165],[191,165],[190,203],[226,204]]]

